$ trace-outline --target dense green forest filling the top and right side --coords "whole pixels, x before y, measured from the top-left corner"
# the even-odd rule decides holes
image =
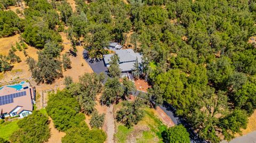
[[[0,11],[0,37],[21,33],[23,41],[42,49],[38,61],[27,60],[38,83],[62,76],[60,31],[67,33],[74,52],[82,45],[91,58],[108,53],[104,47],[109,41],[130,41],[143,54],[140,74],[152,85],[148,96],[156,105],[171,104],[211,142],[230,140],[246,128],[247,116],[256,108],[256,48],[248,42],[256,33],[256,1],[76,0],[75,12],[66,1],[25,2],[25,19]],[[0,3],[4,10],[19,1]],[[0,58],[0,71],[10,70],[9,58]],[[81,107],[86,114],[93,113],[93,108]]]

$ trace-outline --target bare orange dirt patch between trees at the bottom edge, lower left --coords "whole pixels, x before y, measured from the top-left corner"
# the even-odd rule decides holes
[[[49,120],[50,120],[49,127],[51,129],[51,137],[47,142],[48,143],[61,143],[61,138],[64,137],[66,135],[66,133],[60,132],[54,127],[51,117],[49,117]]]

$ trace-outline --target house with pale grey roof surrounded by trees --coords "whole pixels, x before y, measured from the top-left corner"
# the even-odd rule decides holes
[[[139,65],[142,62],[142,55],[139,53],[135,53],[133,49],[120,49],[115,51],[116,55],[119,57],[119,68],[121,69],[122,73],[131,73],[134,69],[134,64],[138,59]],[[109,68],[109,62],[111,61],[110,57],[114,54],[103,55],[103,61],[105,66]],[[131,74],[130,74],[131,75]],[[127,74],[129,77],[129,74]]]

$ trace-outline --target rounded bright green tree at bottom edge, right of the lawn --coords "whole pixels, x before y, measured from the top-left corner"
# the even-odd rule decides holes
[[[173,143],[188,143],[190,142],[189,133],[183,125],[175,125],[164,131],[164,140]]]

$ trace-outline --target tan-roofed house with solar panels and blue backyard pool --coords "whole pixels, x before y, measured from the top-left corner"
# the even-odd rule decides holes
[[[32,114],[35,103],[35,88],[26,81],[0,87],[0,117]]]

